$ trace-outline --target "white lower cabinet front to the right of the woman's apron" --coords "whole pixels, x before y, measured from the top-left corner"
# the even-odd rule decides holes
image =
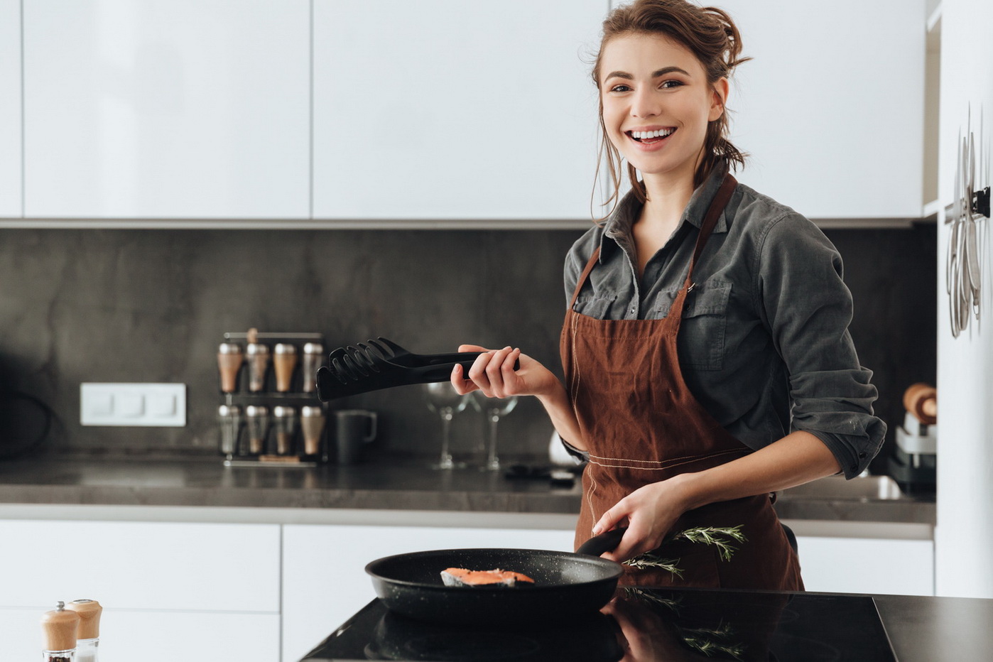
[[[807,591],[934,595],[934,543],[797,536]]]

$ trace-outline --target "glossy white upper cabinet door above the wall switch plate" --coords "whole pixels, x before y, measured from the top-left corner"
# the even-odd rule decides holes
[[[23,6],[25,215],[309,216],[308,0]]]

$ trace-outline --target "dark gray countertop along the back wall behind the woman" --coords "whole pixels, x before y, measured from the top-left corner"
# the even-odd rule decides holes
[[[0,503],[579,512],[581,487],[428,461],[224,467],[219,458],[52,456],[0,462]],[[859,478],[855,478],[859,480]],[[783,519],[933,524],[933,496],[780,493]]]

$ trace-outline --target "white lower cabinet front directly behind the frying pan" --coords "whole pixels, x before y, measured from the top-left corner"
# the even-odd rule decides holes
[[[283,660],[299,660],[375,597],[364,568],[430,549],[519,547],[571,552],[573,530],[402,526],[283,527]]]

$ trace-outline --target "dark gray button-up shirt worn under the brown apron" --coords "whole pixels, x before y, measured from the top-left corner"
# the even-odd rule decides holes
[[[641,282],[632,234],[641,202],[630,191],[566,256],[566,302],[600,246],[574,310],[600,320],[664,318],[726,172],[721,160],[693,192]],[[683,378],[700,404],[751,449],[804,430],[827,445],[846,477],[865,469],[887,427],[873,415],[872,370],[859,364],[848,332],[852,295],[841,255],[824,233],[739,182],[693,280],[677,347]]]

